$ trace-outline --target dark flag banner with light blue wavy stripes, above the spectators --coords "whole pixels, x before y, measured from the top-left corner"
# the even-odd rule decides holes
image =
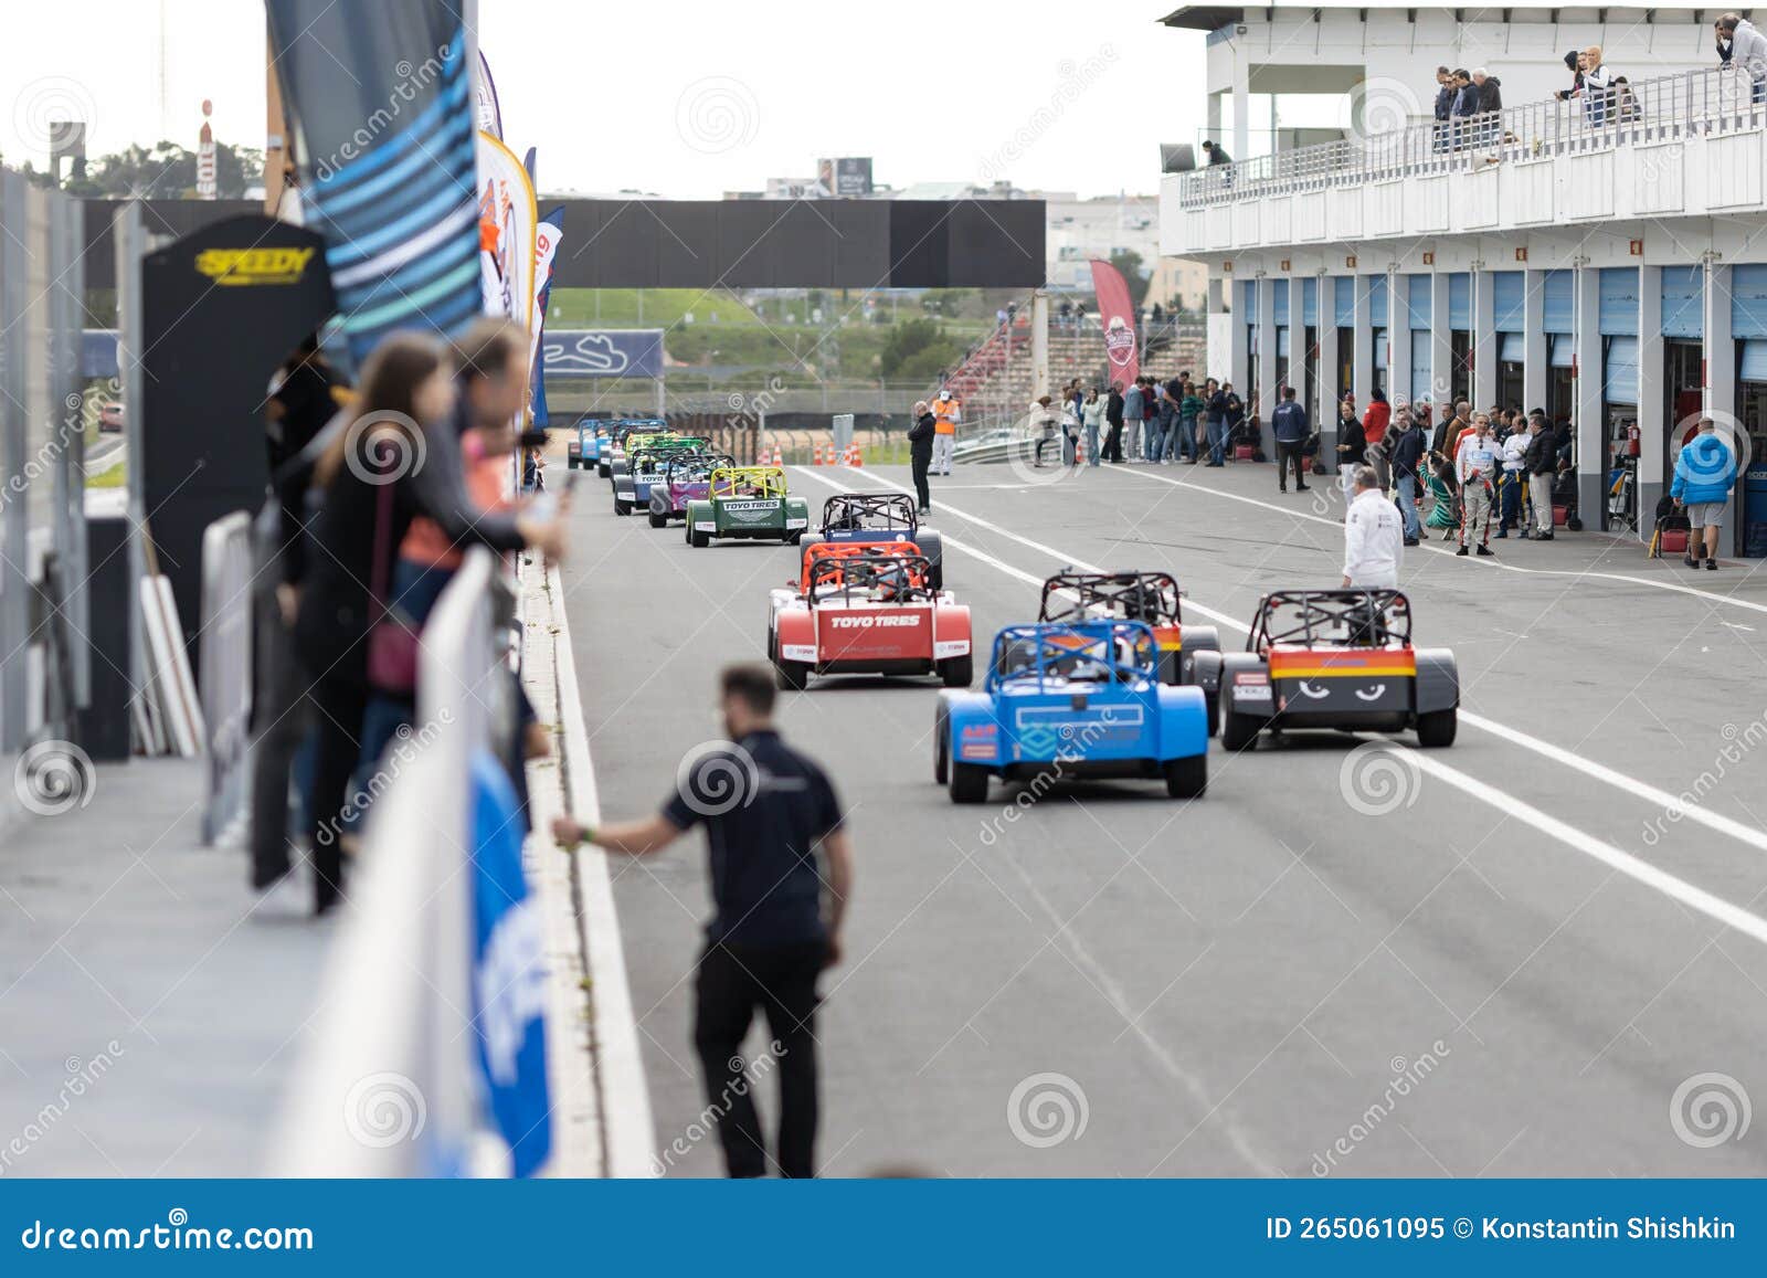
[[[360,362],[394,329],[456,334],[481,309],[477,55],[461,5],[265,9],[283,101],[306,140],[306,221],[325,237],[350,355]]]

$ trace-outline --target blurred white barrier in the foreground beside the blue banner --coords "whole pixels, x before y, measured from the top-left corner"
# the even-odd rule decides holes
[[[470,1022],[470,764],[507,695],[498,578],[474,548],[424,624],[417,726],[368,813],[350,910],[315,1000],[274,1175],[474,1170],[481,1080]]]

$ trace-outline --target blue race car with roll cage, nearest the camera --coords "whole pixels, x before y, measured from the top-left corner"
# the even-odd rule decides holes
[[[1140,620],[1007,626],[982,691],[942,691],[933,780],[952,803],[984,803],[988,778],[1163,778],[1173,799],[1209,788],[1209,704],[1159,679],[1159,642]]]

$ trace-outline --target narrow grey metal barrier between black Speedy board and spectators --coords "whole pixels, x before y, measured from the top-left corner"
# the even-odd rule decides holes
[[[251,516],[233,511],[203,530],[196,654],[209,755],[203,847],[244,820],[251,804]]]

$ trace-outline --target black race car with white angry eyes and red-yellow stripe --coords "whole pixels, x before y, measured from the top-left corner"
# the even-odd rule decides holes
[[[1447,649],[1412,647],[1398,590],[1278,590],[1263,596],[1244,652],[1221,658],[1221,744],[1260,732],[1405,732],[1454,744],[1460,670]]]

